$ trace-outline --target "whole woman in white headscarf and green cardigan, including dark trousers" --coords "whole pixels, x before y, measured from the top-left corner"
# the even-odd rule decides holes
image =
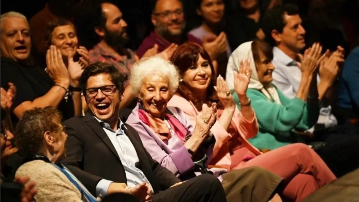
[[[262,41],[250,41],[240,45],[231,55],[232,69],[238,69],[240,60],[249,59],[251,79],[247,90],[247,97],[251,99],[251,106],[259,123],[258,134],[248,139],[251,144],[260,149],[276,149],[295,142],[304,142],[300,132],[311,128],[318,120],[318,89],[317,67],[321,61],[322,48],[314,44],[304,52],[301,64],[301,83],[293,99],[287,98],[280,90],[271,84],[273,59],[272,47]],[[227,67],[229,68],[229,67]],[[238,97],[233,95],[237,106],[240,107]],[[317,153],[323,161],[340,177],[358,168],[359,141],[356,139],[341,139],[327,142]]]

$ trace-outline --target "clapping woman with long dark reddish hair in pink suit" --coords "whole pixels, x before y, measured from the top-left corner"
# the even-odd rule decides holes
[[[171,62],[179,68],[181,82],[169,106],[182,109],[195,125],[196,117],[204,112],[203,104],[217,104],[218,117],[211,128],[216,139],[211,164],[228,169],[250,166],[268,169],[284,178],[283,195],[289,201],[301,201],[335,179],[323,160],[305,144],[291,144],[261,154],[248,142],[258,133],[251,100],[246,94],[251,78],[249,61],[240,62],[240,71],[234,72],[235,96],[241,110],[224,80],[220,76],[215,78],[212,61],[201,46],[182,44]]]

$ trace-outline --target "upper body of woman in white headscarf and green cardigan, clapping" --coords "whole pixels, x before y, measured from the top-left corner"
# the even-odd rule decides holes
[[[314,60],[319,59],[319,51],[321,48],[317,45],[306,51],[301,67],[302,79],[294,99],[287,98],[271,84],[275,67],[271,63],[273,53],[269,44],[254,40],[243,43],[232,53],[230,60],[251,61],[252,75],[247,96],[257,116],[259,132],[249,141],[255,147],[272,150],[290,143],[304,142],[297,132],[311,128],[319,115],[317,81],[313,76],[317,69]],[[238,97],[233,96],[240,107]]]

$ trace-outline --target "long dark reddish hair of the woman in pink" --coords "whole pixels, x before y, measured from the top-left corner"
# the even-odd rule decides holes
[[[179,75],[182,78],[189,67],[197,65],[199,56],[208,61],[212,71],[211,82],[207,88],[208,97],[206,102],[208,105],[215,102],[218,104],[218,107],[221,107],[222,104],[219,101],[214,88],[217,81],[215,77],[215,69],[213,67],[211,57],[202,46],[191,42],[180,45],[172,54],[171,62],[179,69]],[[202,104],[204,102],[196,98],[183,81],[179,82],[179,88],[176,93],[186,100],[192,101],[198,110],[202,110]]]

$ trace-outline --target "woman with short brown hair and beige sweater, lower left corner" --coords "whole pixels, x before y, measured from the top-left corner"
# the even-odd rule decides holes
[[[59,163],[66,156],[67,139],[61,119],[53,107],[24,113],[16,126],[15,142],[27,158],[16,171],[16,177],[28,176],[36,183],[36,202],[97,202],[72,172]],[[135,189],[123,189],[119,199],[137,202],[130,196]]]

